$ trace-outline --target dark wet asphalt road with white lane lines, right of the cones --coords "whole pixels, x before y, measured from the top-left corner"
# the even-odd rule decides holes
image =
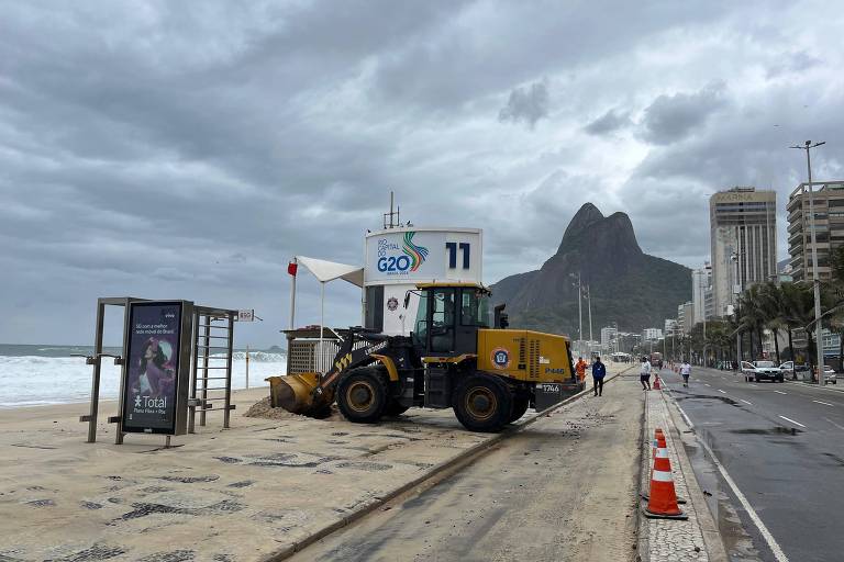
[[[688,389],[663,379],[788,559],[844,560],[844,392],[701,368]],[[759,558],[775,560],[734,507]]]

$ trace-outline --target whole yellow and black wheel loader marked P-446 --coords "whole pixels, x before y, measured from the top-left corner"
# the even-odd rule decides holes
[[[535,404],[542,387],[575,380],[568,338],[503,329],[502,307],[490,327],[488,289],[425,283],[413,292],[420,302],[410,336],[338,330],[333,367],[281,376],[274,405],[323,417],[336,401],[347,419],[365,424],[412,406],[454,408],[467,429],[500,431]]]

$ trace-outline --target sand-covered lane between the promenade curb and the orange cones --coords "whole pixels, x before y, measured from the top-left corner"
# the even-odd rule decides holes
[[[635,379],[609,382],[603,396],[565,406],[291,560],[632,561],[643,415]]]

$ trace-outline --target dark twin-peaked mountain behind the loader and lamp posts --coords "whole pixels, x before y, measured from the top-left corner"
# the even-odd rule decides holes
[[[577,338],[577,289],[570,274],[578,271],[591,291],[595,339],[612,323],[622,331],[664,328],[665,318],[676,318],[677,306],[691,299],[689,268],[644,254],[626,214],[603,216],[586,203],[566,228],[557,252],[541,269],[492,285],[492,301],[507,303],[514,328]],[[588,337],[584,301],[584,339]]]

